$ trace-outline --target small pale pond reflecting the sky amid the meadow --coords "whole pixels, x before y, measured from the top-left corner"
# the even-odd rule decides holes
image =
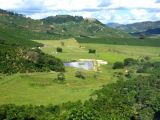
[[[94,64],[92,61],[68,62],[64,63],[64,66],[75,67],[85,70],[92,70],[94,68]]]

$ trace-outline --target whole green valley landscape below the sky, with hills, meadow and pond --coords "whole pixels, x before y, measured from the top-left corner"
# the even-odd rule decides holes
[[[159,120],[159,36],[130,34],[145,23],[0,9],[0,120]]]

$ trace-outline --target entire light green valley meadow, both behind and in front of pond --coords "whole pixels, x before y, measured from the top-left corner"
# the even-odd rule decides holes
[[[112,63],[125,58],[150,56],[152,60],[160,60],[160,48],[150,46],[108,45],[99,43],[78,43],[75,39],[66,40],[35,40],[44,44],[41,48],[47,54],[56,56],[63,61],[77,59],[102,59],[108,65],[100,67],[100,72],[84,71],[86,79],[75,77],[78,69],[66,68],[65,81],[56,80],[56,72],[26,73],[12,76],[0,75],[0,104],[61,104],[67,101],[86,100],[104,84],[115,82]],[[64,42],[64,46],[61,43]],[[63,53],[56,53],[62,47]],[[88,49],[96,49],[96,54],[89,54]],[[122,72],[124,70],[121,70]],[[95,77],[96,76],[96,77]]]

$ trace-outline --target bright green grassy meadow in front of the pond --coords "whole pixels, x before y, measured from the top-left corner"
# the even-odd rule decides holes
[[[0,82],[0,104],[59,104],[67,101],[86,100],[94,90],[109,81],[95,80],[93,72],[86,80],[74,77],[74,69],[67,69],[65,83],[54,79],[57,73],[16,74]],[[100,76],[102,78],[102,76]]]

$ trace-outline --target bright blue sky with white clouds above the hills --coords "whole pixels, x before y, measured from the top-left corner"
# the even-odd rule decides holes
[[[120,24],[160,20],[160,0],[0,0],[0,8],[33,19],[73,15]]]

